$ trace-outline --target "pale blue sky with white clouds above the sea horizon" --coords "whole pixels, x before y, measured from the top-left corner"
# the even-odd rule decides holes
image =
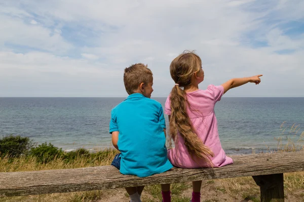
[[[125,97],[135,63],[166,97],[184,50],[202,59],[202,89],[263,74],[224,96],[303,97],[304,1],[0,2],[0,97]]]

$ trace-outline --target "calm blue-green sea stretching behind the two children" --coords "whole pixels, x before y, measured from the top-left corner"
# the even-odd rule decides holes
[[[156,97],[163,106],[166,98]],[[124,98],[0,98],[0,136],[27,136],[65,150],[111,147],[110,112]],[[304,98],[222,97],[215,114],[222,147],[227,154],[248,154],[277,148],[284,135],[297,140],[304,128]],[[168,117],[165,116],[167,125]],[[280,126],[283,124],[283,127]],[[297,134],[289,134],[295,124]],[[294,127],[293,127],[294,128]],[[281,130],[280,130],[281,129]]]

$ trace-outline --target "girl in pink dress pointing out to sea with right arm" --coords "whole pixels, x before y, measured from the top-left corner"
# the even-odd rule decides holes
[[[231,88],[245,83],[260,83],[260,76],[231,79],[222,85],[199,89],[204,80],[202,61],[193,52],[184,52],[170,65],[175,82],[165,105],[169,115],[170,134],[175,148],[168,150],[168,159],[179,168],[221,167],[232,164],[221,147],[214,106]],[[171,141],[169,141],[171,142]],[[200,201],[202,181],[193,182],[192,202]]]

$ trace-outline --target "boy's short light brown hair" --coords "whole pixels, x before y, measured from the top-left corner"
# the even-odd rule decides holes
[[[137,63],[125,69],[124,83],[128,94],[133,94],[141,83],[147,85],[153,80],[153,74],[147,65]]]

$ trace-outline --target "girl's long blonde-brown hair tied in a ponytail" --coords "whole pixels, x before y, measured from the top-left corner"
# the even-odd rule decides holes
[[[179,133],[193,159],[198,157],[213,166],[210,157],[213,157],[214,154],[198,137],[186,111],[187,107],[191,109],[187,101],[186,92],[180,88],[191,85],[194,73],[199,72],[201,67],[202,61],[194,52],[184,52],[171,62],[170,74],[174,82],[179,86],[175,85],[170,94],[170,137],[175,139],[177,133]],[[171,139],[169,142],[171,142]]]

